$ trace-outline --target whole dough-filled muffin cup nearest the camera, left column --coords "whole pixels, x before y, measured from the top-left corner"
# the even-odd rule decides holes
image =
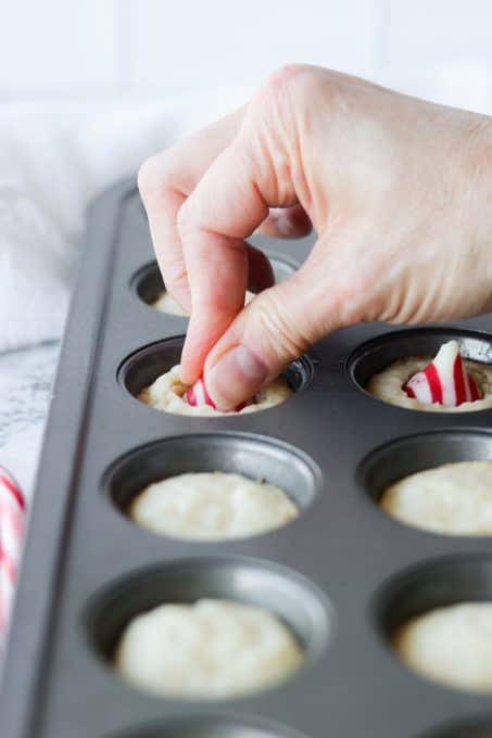
[[[244,558],[201,558],[106,587],[90,602],[87,626],[96,651],[133,686],[213,700],[262,691],[313,662],[332,615],[321,593],[294,572]]]

